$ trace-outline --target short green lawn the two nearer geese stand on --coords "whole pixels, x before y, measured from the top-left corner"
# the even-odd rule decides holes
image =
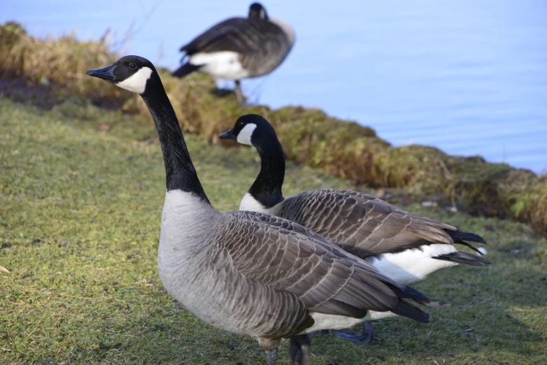
[[[259,168],[255,151],[187,143],[213,204],[236,209]],[[351,185],[289,164],[286,195],[317,187]],[[10,270],[0,271],[0,364],[264,361],[252,338],[213,329],[164,292],[163,199],[151,121],[84,101],[44,111],[0,99],[0,265]],[[492,266],[418,285],[451,304],[427,309],[430,324],[378,322],[371,345],[314,336],[313,364],[546,364],[546,239],[508,220],[406,208],[484,236]],[[280,364],[287,350],[284,341]]]

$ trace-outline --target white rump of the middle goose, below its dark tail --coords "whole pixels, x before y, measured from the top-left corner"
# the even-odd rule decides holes
[[[385,253],[371,257],[367,259],[367,262],[396,282],[412,285],[425,279],[427,275],[434,271],[457,265],[455,262],[432,259],[432,257],[447,255],[456,251],[457,249],[453,245],[436,243],[397,253]]]

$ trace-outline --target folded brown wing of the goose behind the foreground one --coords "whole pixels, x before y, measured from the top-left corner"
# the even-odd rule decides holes
[[[342,189],[291,196],[277,214],[362,258],[428,243],[454,243],[450,234],[458,232],[449,224],[405,212],[374,196]]]

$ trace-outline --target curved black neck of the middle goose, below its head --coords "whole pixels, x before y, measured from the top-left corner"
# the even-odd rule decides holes
[[[285,155],[276,136],[262,138],[255,145],[260,155],[260,173],[251,185],[249,194],[264,207],[271,208],[283,201],[283,180],[285,179]]]

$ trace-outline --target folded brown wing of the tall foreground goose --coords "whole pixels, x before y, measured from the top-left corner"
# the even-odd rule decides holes
[[[232,257],[234,270],[251,282],[290,292],[308,310],[320,313],[364,317],[367,310],[399,306],[394,290],[403,285],[313,231],[271,215],[226,214],[226,231],[239,234],[219,242]]]

